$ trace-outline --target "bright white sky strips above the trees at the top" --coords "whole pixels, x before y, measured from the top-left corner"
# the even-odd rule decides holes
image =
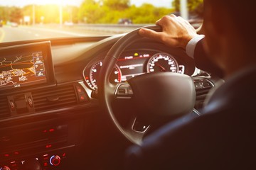
[[[26,6],[28,4],[63,4],[79,6],[83,0],[0,0],[0,6]],[[154,4],[154,6],[171,7],[173,0],[130,0],[131,4],[140,6],[143,3]]]

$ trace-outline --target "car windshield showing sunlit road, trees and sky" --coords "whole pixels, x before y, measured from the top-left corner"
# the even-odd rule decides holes
[[[0,42],[127,33],[162,16],[182,14],[186,0],[0,1]],[[203,0],[188,0],[184,16],[196,28]],[[186,10],[185,10],[186,11]]]

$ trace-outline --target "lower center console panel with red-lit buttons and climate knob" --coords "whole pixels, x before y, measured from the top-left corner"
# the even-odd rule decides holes
[[[68,166],[79,143],[82,121],[55,121],[1,129],[0,169],[29,170],[37,165],[50,170]]]

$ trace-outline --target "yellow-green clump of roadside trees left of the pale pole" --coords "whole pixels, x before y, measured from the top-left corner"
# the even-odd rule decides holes
[[[132,23],[155,23],[173,8],[157,8],[152,4],[130,5],[129,0],[84,0],[79,8],[79,20],[85,23],[118,23],[128,18]]]

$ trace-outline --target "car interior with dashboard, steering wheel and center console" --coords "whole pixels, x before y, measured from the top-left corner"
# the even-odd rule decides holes
[[[138,29],[1,42],[0,54],[1,170],[122,169],[127,147],[181,115],[200,116],[220,80]]]

